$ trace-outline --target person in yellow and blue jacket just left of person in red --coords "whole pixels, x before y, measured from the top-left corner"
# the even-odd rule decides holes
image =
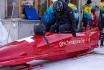
[[[87,3],[83,7],[83,26],[85,27],[85,30],[87,26],[90,24],[91,20],[93,19],[93,15],[91,13],[92,11],[91,3],[92,3],[91,0],[87,0]]]

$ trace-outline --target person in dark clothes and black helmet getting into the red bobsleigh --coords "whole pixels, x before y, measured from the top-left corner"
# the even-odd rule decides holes
[[[72,9],[62,0],[56,1],[53,4],[55,10],[56,22],[51,27],[52,32],[71,32],[76,36],[76,21]]]

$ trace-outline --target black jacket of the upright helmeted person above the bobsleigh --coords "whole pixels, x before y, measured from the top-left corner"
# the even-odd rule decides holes
[[[56,16],[57,25],[69,24],[72,34],[76,34],[76,21],[72,8],[68,7],[68,5],[64,3],[64,11],[56,14]]]

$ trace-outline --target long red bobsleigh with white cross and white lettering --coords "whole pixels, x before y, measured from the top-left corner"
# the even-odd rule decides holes
[[[94,28],[77,33],[50,33],[17,40],[0,48],[0,66],[29,64],[35,61],[54,61],[80,56],[97,48],[99,30]]]

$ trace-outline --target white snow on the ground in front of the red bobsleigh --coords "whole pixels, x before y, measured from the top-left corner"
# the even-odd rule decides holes
[[[104,48],[96,49],[104,52]],[[104,55],[88,54],[77,58],[69,58],[61,61],[43,64],[43,67],[33,70],[104,70]]]

